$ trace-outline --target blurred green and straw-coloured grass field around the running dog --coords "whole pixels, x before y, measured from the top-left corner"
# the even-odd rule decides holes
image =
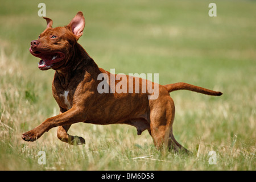
[[[43,1],[53,26],[85,15],[79,43],[99,67],[116,73],[159,73],[159,83],[187,82],[223,96],[177,91],[174,136],[192,155],[155,149],[147,132],[128,125],[77,123],[69,133],[83,146],[57,139],[56,128],[36,142],[21,134],[59,113],[54,72],[40,71],[28,48],[46,28],[42,1],[0,6],[0,170],[255,170],[256,2]],[[46,152],[40,165],[39,151]],[[215,151],[217,164],[209,164]]]

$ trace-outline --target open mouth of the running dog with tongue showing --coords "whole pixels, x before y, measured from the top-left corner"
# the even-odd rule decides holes
[[[38,63],[38,68],[41,70],[47,70],[53,67],[54,64],[59,63],[60,61],[64,60],[65,54],[63,52],[39,52],[33,51],[30,47],[30,53],[33,56],[39,57],[40,60]]]

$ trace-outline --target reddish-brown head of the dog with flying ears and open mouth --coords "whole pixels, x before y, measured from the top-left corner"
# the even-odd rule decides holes
[[[41,70],[60,69],[73,55],[73,47],[82,36],[85,26],[84,15],[79,11],[65,27],[52,28],[52,20],[44,17],[47,28],[37,40],[31,42],[30,53],[40,60]]]

